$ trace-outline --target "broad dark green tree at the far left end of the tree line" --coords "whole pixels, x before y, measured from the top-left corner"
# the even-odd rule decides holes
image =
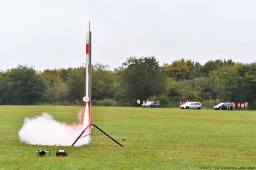
[[[1,104],[33,104],[42,100],[46,89],[45,81],[32,67],[18,65],[1,75],[1,80]]]

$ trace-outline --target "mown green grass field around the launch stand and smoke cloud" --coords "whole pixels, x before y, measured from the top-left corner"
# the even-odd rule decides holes
[[[75,106],[0,106],[0,169],[256,168],[256,111],[93,107],[93,122],[122,143],[92,136],[82,147],[27,145],[18,132],[25,117],[48,112],[78,122]],[[103,136],[98,130],[94,134]],[[122,141],[125,138],[125,141]],[[38,149],[53,156],[38,157]],[[54,156],[66,149],[68,157]]]

